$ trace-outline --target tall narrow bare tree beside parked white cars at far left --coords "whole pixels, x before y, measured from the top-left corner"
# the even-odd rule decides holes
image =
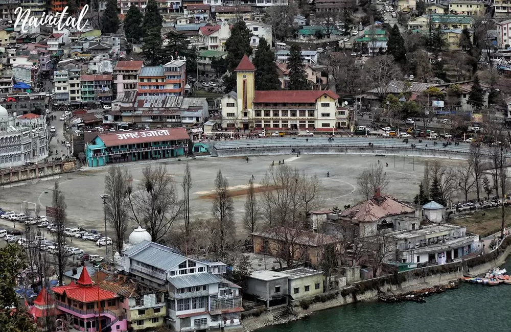
[[[64,284],[65,266],[69,255],[65,248],[67,243],[66,235],[64,233],[67,224],[67,204],[65,203],[65,195],[60,191],[58,182],[55,182],[55,185],[53,186],[52,206],[55,209],[55,216],[53,218],[56,227],[56,232],[53,235],[53,240],[55,242],[55,272],[57,273],[59,286],[62,286]]]

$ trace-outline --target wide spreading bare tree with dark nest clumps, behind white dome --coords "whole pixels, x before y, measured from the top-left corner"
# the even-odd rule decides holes
[[[174,221],[183,213],[176,185],[164,165],[148,165],[142,169],[142,180],[136,192],[128,188],[131,218],[144,225],[152,241],[162,240]]]

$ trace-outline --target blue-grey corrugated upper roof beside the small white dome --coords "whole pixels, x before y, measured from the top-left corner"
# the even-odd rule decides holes
[[[144,241],[141,244],[144,243],[147,244],[148,242]],[[135,248],[137,246],[135,246]],[[135,248],[132,248],[131,250]],[[176,265],[179,265],[179,263],[187,260],[187,257],[173,253],[171,248],[161,246],[153,242],[149,242],[147,247],[140,250],[140,252],[136,252],[132,256],[130,256],[128,253],[125,254],[127,254],[128,257],[132,259],[138,260],[139,262],[154,266],[155,268],[164,271],[168,271],[174,268]]]

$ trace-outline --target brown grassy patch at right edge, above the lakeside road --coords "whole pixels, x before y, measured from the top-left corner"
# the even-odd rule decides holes
[[[509,216],[511,214],[511,208],[506,207],[506,227],[511,226],[511,220]],[[474,211],[473,213],[467,214],[463,219],[451,219],[449,223],[467,227],[467,232],[490,235],[498,232],[502,223],[502,210],[501,208],[493,208],[482,211]]]

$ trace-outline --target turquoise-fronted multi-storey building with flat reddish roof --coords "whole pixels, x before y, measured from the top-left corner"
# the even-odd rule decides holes
[[[104,103],[112,101],[111,75],[82,75],[80,77],[81,102]]]

